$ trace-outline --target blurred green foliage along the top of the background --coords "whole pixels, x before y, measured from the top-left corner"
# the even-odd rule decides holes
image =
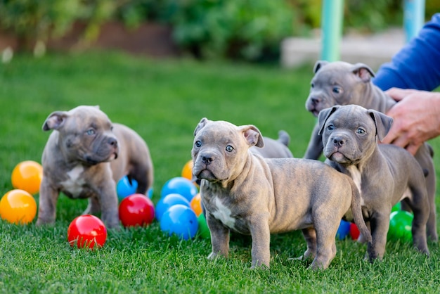
[[[0,0],[0,29],[35,41],[62,37],[74,23],[93,41],[109,21],[135,29],[142,23],[172,27],[176,46],[196,58],[276,59],[285,37],[307,36],[321,23],[321,0]],[[426,18],[438,11],[427,1]],[[401,26],[402,0],[346,0],[344,30],[377,32]]]

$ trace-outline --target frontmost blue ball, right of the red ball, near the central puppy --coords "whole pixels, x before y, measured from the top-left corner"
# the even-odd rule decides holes
[[[184,240],[194,238],[198,228],[199,224],[195,212],[182,204],[169,207],[160,220],[162,231],[167,231],[169,236],[176,234]]]

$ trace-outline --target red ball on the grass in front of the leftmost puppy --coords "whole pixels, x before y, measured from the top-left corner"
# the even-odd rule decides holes
[[[67,228],[67,241],[72,247],[101,248],[107,239],[104,223],[94,215],[80,215]]]

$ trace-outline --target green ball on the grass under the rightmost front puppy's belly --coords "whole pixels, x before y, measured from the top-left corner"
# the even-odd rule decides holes
[[[395,211],[389,216],[389,230],[387,238],[401,241],[411,241],[414,216],[407,211]]]

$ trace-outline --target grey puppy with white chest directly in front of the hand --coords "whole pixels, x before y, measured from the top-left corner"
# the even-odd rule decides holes
[[[429,255],[429,201],[422,167],[404,148],[377,144],[389,131],[392,117],[361,106],[333,106],[321,110],[318,123],[328,164],[354,179],[361,191],[363,217],[373,236],[368,243],[370,260],[384,256],[389,215],[400,200],[414,213],[415,247]]]

